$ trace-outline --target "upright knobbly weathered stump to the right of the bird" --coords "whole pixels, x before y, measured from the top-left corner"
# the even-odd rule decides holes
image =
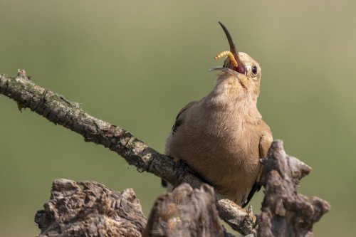
[[[298,194],[299,181],[311,168],[283,149],[283,142],[272,143],[263,160],[265,187],[259,237],[313,236],[313,224],[330,210],[327,201]]]

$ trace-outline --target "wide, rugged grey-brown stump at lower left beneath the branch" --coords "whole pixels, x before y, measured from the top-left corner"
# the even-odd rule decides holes
[[[39,237],[140,237],[147,220],[132,189],[119,192],[94,181],[57,179],[51,200],[37,211],[35,222],[41,228]]]

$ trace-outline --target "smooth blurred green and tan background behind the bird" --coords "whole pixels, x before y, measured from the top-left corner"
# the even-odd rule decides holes
[[[352,1],[6,1],[0,73],[25,68],[163,152],[177,112],[213,88],[229,48],[262,67],[258,108],[286,152],[313,167],[300,192],[332,205],[315,236],[355,233],[356,31]],[[54,179],[135,189],[145,215],[159,178],[0,95],[0,236],[36,236],[33,218]],[[252,201],[254,211],[263,196]]]

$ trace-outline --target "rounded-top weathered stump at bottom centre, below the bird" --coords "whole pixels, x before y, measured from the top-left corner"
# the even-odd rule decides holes
[[[214,201],[214,189],[203,184],[192,189],[182,184],[156,200],[144,237],[201,236],[223,237]]]

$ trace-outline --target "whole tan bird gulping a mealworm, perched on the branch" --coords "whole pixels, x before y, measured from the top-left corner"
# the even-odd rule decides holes
[[[219,22],[220,23],[220,22]],[[229,31],[220,23],[230,51],[214,89],[199,101],[189,102],[177,115],[165,154],[182,159],[199,177],[223,196],[246,206],[261,188],[260,159],[266,157],[272,133],[257,110],[261,68],[246,53],[236,50]]]

